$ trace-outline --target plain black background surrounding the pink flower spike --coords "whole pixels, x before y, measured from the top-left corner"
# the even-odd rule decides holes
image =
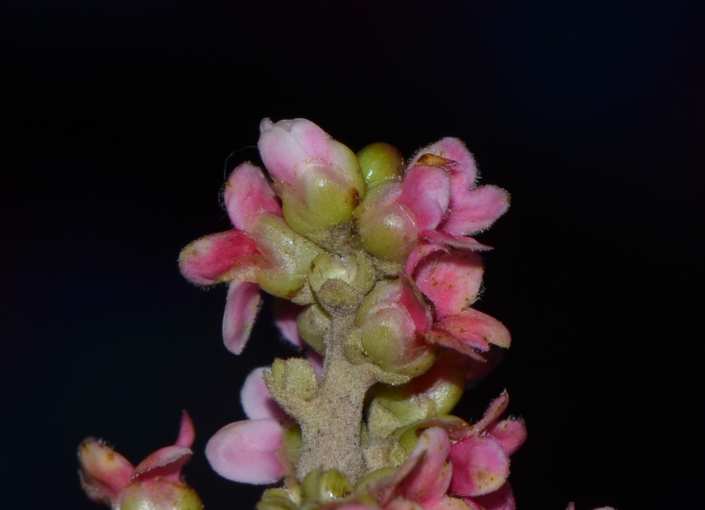
[[[700,497],[704,10],[698,1],[8,0],[0,12],[0,480],[7,508],[97,509],[75,448],[137,463],[197,427],[188,480],[251,508],[203,447],[242,419],[252,366],[293,352],[262,314],[221,343],[225,289],[180,249],[228,228],[226,170],[262,117],[353,150],[441,136],[508,215],[480,236],[480,310],[513,347],[502,388],[529,440],[520,509],[693,508]],[[236,152],[231,158],[228,155]]]

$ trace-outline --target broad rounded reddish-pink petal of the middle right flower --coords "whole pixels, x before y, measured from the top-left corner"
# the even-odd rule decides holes
[[[482,282],[482,258],[474,252],[440,253],[416,267],[419,289],[436,306],[436,317],[445,319],[467,310]]]

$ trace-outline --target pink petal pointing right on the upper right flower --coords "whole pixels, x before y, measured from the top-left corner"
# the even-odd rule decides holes
[[[497,186],[479,186],[453,197],[453,204],[440,229],[452,236],[483,231],[509,208],[509,193]]]

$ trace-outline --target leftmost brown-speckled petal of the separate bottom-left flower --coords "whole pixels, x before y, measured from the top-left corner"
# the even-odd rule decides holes
[[[121,488],[130,483],[135,466],[108,445],[93,438],[83,441],[78,447],[83,483],[94,501],[103,497],[116,497]]]

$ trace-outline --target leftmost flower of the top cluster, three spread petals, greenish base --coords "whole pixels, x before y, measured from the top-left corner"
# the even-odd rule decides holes
[[[223,340],[228,350],[240,354],[257,316],[259,288],[290,297],[305,283],[319,251],[288,227],[279,198],[255,165],[235,168],[224,196],[235,229],[194,241],[181,252],[179,266],[198,285],[230,282]]]

